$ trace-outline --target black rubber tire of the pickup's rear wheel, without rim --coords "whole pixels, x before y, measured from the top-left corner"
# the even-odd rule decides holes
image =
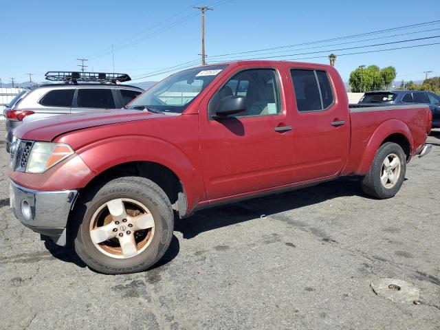
[[[381,175],[382,175],[382,164],[386,157],[390,155],[397,155],[399,158],[399,175],[397,177],[397,181],[393,186],[387,188],[382,184]],[[380,146],[377,150],[377,153],[373,159],[373,164],[371,164],[371,168],[369,173],[367,173],[362,180],[362,190],[370,196],[376,197],[378,199],[387,199],[394,197],[397,192],[400,190],[401,185],[404,183],[406,173],[406,155],[399,146],[394,142],[386,142]]]

